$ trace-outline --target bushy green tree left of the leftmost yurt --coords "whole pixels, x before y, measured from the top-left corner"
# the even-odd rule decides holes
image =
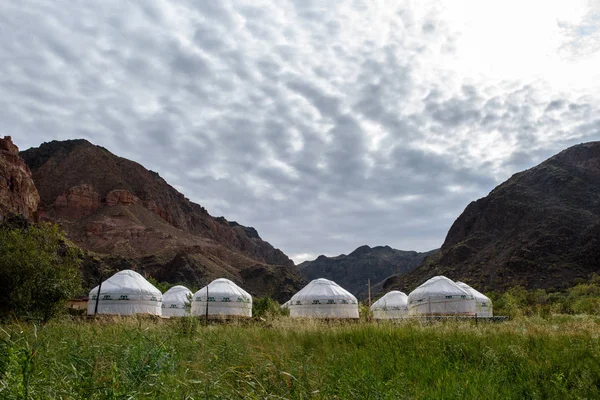
[[[80,262],[57,225],[0,227],[0,317],[50,319],[81,292]]]

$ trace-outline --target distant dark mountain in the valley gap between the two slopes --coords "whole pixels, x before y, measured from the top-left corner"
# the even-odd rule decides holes
[[[334,280],[358,298],[364,299],[368,294],[368,279],[371,279],[371,293],[375,294],[381,290],[386,278],[412,271],[425,257],[436,251],[417,253],[389,246],[361,246],[348,255],[321,255],[316,260],[299,264],[298,268],[308,279]]]

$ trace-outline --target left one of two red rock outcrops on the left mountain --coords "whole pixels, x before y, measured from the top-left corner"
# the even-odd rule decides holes
[[[57,217],[78,220],[92,215],[100,208],[100,195],[92,185],[73,186],[54,201]]]

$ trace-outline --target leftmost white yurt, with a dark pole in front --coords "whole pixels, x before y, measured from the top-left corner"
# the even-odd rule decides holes
[[[98,286],[90,291],[88,315],[93,315],[98,300],[98,314],[161,315],[162,293],[143,276],[126,269],[104,282],[98,296]]]

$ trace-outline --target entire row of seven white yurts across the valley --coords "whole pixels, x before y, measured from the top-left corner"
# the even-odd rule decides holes
[[[190,307],[191,303],[191,307]],[[251,317],[252,296],[228,279],[216,279],[192,292],[174,286],[165,294],[135,271],[120,271],[90,292],[88,314],[151,314],[165,317]],[[315,279],[287,301],[283,308],[293,318],[358,318],[358,301],[350,292],[328,279]],[[482,293],[444,276],[429,279],[408,296],[387,293],[371,310],[376,319],[407,315],[464,315],[491,317],[492,303]]]

